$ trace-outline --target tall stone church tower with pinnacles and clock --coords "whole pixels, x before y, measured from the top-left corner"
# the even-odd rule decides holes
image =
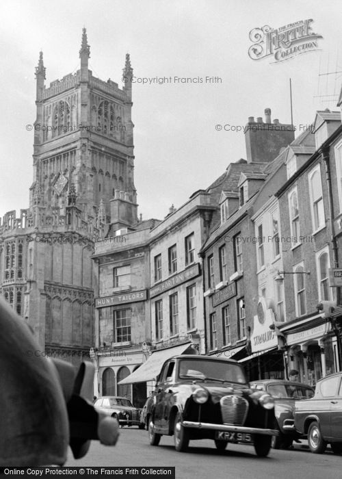
[[[47,87],[40,52],[29,208],[0,223],[1,293],[42,351],[73,362],[93,344],[94,239],[137,224],[129,55],[122,89],[92,75],[86,29],[79,57]]]

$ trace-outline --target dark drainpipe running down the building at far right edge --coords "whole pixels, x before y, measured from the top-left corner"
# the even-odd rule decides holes
[[[334,261],[334,268],[339,268],[339,248],[337,246],[337,239],[335,237],[334,231],[334,200],[332,196],[332,185],[331,185],[331,174],[330,174],[330,152],[329,148],[323,148],[320,151],[321,157],[324,160],[326,166],[326,185],[328,188],[328,204],[329,204],[329,217],[330,217],[330,242],[332,244],[332,258]],[[341,289],[340,287],[336,288],[336,302],[337,305],[340,305],[341,302]],[[341,337],[339,327],[337,325],[335,318],[330,318],[332,330],[337,339],[337,352],[339,357],[339,371],[342,367],[342,347],[341,347]]]

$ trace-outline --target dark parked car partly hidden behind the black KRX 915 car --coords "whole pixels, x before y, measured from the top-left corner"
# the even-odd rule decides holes
[[[293,426],[295,401],[312,398],[315,391],[311,386],[295,383],[285,379],[263,379],[252,381],[250,387],[266,391],[274,398],[274,413],[276,415],[275,429],[278,436],[272,437],[272,448],[287,449],[293,441],[303,437]]]

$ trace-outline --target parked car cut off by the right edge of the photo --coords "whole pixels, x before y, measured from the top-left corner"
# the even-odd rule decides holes
[[[315,396],[295,403],[294,426],[307,435],[311,452],[321,454],[330,443],[342,453],[342,372],[330,374],[316,384]]]

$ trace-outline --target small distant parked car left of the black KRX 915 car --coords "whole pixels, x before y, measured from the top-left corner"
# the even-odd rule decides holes
[[[118,419],[121,427],[138,426],[144,429],[144,424],[140,422],[141,409],[135,408],[131,401],[127,398],[118,396],[103,396],[96,399],[94,403],[95,409],[105,413],[111,417]]]

